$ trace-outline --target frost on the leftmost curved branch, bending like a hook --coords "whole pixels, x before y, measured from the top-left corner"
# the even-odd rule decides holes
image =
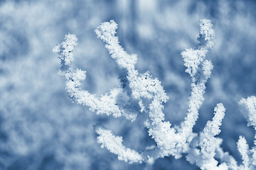
[[[124,113],[119,108],[117,103],[117,96],[122,94],[121,88],[115,88],[110,91],[110,94],[104,94],[97,98],[94,94],[80,89],[81,81],[85,80],[86,72],[81,69],[73,71],[72,62],[74,61],[73,50],[77,45],[78,38],[75,35],[68,33],[65,35],[65,41],[61,45],[53,47],[53,52],[58,54],[60,59],[60,75],[63,75],[66,80],[66,90],[73,100],[81,105],[88,106],[91,111],[97,114],[113,115],[118,118],[124,115],[129,120],[135,120],[136,113]]]

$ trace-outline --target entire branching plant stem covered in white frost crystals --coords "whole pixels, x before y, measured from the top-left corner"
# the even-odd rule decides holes
[[[65,77],[65,88],[73,101],[88,106],[90,111],[96,114],[112,115],[114,118],[124,116],[131,121],[141,118],[137,116],[138,114],[148,114],[148,119],[142,121],[148,129],[149,136],[156,142],[156,147],[145,149],[143,152],[124,147],[122,137],[114,136],[110,130],[100,126],[95,128],[98,135],[97,142],[101,144],[101,147],[117,154],[117,159],[132,164],[152,162],[159,157],[174,156],[178,159],[185,154],[188,162],[196,164],[201,169],[255,168],[256,149],[253,147],[249,151],[244,137],[238,140],[238,150],[243,159],[242,165],[238,166],[235,159],[221,149],[222,140],[215,136],[220,133],[220,125],[225,115],[222,103],[218,103],[215,107],[213,120],[206,123],[203,132],[198,134],[193,132],[193,126],[198,120],[198,110],[204,101],[206,82],[213,69],[210,60],[206,60],[208,50],[214,46],[213,25],[209,20],[203,19],[200,21],[200,28],[198,47],[181,52],[184,65],[187,67],[186,72],[191,77],[192,91],[188,101],[188,113],[178,128],[172,128],[171,123],[165,120],[163,103],[166,103],[169,97],[161,86],[161,81],[157,78],[153,79],[149,72],[139,74],[135,69],[137,55],[128,55],[119,45],[119,40],[115,36],[117,23],[114,21],[101,23],[95,33],[106,43],[105,47],[109,50],[111,57],[124,70],[122,77],[126,80],[127,86],[120,84],[117,88],[111,89],[109,94],[104,94],[100,98],[80,88],[81,81],[86,78],[86,72],[81,69],[74,71],[72,68],[73,50],[78,38],[73,34],[65,35],[65,41],[53,48],[53,52],[57,53],[60,58],[59,74]],[[129,96],[130,100],[122,101],[122,96]],[[137,101],[137,107],[133,109],[122,107],[124,106],[122,103],[131,100]],[[248,109],[248,122],[254,127],[256,127],[255,101],[255,96],[240,101]],[[218,162],[217,159],[220,161]]]

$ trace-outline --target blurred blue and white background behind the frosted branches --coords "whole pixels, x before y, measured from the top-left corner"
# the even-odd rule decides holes
[[[127,164],[100,148],[92,125],[122,135],[124,145],[142,150],[154,145],[146,129],[124,118],[95,115],[71,103],[57,72],[53,46],[64,35],[78,36],[75,67],[87,71],[83,87],[100,96],[119,84],[118,68],[94,30],[114,19],[129,54],[137,54],[139,72],[149,70],[170,97],[166,120],[178,125],[188,109],[191,79],[180,52],[196,47],[199,20],[215,29],[208,53],[214,69],[195,132],[222,102],[226,115],[219,137],[223,149],[241,162],[239,135],[253,146],[254,130],[240,111],[240,98],[256,94],[256,1],[42,0],[0,1],[0,169],[197,169],[183,157],[154,164]]]

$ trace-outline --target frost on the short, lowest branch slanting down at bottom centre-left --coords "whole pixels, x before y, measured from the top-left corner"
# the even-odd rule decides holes
[[[105,130],[102,128],[97,128],[97,142],[101,144],[101,147],[106,147],[113,154],[117,154],[117,158],[120,161],[129,162],[132,164],[134,162],[142,163],[142,155],[133,149],[129,149],[122,145],[122,137],[114,136],[110,130]]]

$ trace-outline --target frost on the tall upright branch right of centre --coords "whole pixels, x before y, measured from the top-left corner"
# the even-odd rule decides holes
[[[203,43],[214,45],[213,25],[205,19],[201,20],[200,23],[201,30],[198,39],[204,38]],[[208,24],[205,25],[204,23]],[[206,34],[208,32],[212,34]],[[204,101],[203,94],[206,90],[206,82],[210,78],[211,70],[213,69],[211,62],[206,60],[206,53],[211,47],[198,47],[196,50],[189,49],[181,52],[184,65],[187,67],[186,72],[190,74],[192,79],[192,92],[188,101],[188,113],[183,123],[181,123],[181,134],[187,139],[193,136],[193,126],[196,125],[196,120],[198,119],[198,110]],[[189,140],[187,141],[189,142]]]

